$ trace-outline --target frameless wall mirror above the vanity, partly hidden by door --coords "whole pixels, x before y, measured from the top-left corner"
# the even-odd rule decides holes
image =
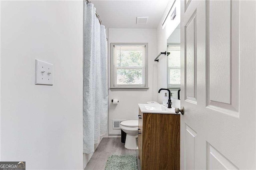
[[[180,93],[180,24],[167,39],[167,88],[172,98],[179,99]]]

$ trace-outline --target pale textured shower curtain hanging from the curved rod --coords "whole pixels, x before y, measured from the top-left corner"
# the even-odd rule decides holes
[[[83,152],[94,152],[94,144],[107,133],[108,74],[106,30],[96,18],[92,3],[84,7]]]

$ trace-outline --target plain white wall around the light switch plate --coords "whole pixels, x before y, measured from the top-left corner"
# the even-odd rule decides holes
[[[1,161],[82,169],[83,2],[1,1]],[[54,85],[34,85],[35,59]]]

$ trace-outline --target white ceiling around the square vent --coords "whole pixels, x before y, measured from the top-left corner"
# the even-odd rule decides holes
[[[168,0],[91,0],[106,28],[157,28]],[[136,24],[148,16],[148,24]]]

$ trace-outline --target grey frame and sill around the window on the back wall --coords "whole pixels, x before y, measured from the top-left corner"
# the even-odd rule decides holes
[[[145,87],[140,86],[114,86],[114,45],[136,46],[145,45],[145,71],[144,83]],[[110,89],[112,91],[147,91],[148,87],[148,43],[110,43]]]

